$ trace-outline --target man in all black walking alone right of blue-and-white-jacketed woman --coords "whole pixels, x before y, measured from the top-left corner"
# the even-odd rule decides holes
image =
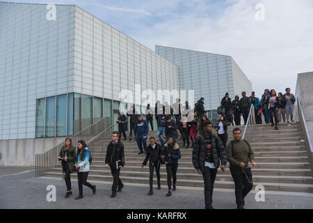
[[[112,195],[111,198],[116,197],[116,189],[118,192],[122,191],[124,187],[122,180],[120,180],[120,170],[124,167],[124,145],[118,137],[120,134],[118,131],[112,133],[112,141],[109,143],[106,149],[106,167],[111,167],[111,173],[113,176]]]

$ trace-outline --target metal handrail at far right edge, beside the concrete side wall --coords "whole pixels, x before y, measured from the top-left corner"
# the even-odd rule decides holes
[[[301,100],[299,97],[297,97],[297,100],[298,100],[297,104],[298,104],[299,122],[300,122],[300,125],[302,127],[304,137],[306,139],[305,144],[306,144],[306,148],[307,148],[307,156],[309,157],[309,162],[310,162],[310,166],[311,166],[311,174],[313,177],[313,160],[312,160],[312,158],[313,158],[313,146],[312,146],[309,130],[307,128],[307,122],[305,121],[305,116],[303,114]]]

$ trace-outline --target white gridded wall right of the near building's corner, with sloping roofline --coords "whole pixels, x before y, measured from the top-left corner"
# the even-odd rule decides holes
[[[75,7],[74,92],[120,100],[120,91],[179,90],[178,67]]]

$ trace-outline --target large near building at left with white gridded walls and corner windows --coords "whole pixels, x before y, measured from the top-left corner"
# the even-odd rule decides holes
[[[78,6],[0,2],[0,139],[65,137],[119,93],[179,90],[178,66]],[[138,112],[144,112],[141,102]]]

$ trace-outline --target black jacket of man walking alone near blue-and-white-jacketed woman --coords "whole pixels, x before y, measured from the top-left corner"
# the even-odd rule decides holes
[[[124,145],[120,140],[117,143],[111,141],[106,149],[105,164],[109,164],[111,168],[116,167],[116,161],[121,160],[120,166],[124,167],[125,155]]]

